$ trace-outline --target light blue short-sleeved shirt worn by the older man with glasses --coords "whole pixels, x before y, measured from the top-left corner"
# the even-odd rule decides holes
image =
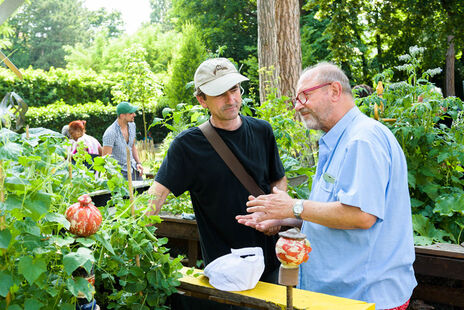
[[[370,229],[303,222],[311,242],[299,288],[376,303],[404,304],[417,285],[404,153],[390,130],[352,108],[319,140],[310,200],[340,201],[375,215]]]

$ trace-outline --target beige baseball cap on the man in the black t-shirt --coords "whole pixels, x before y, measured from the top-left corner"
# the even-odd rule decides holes
[[[211,58],[198,67],[193,78],[195,93],[200,89],[208,96],[219,96],[234,85],[249,79],[240,73],[227,58]]]

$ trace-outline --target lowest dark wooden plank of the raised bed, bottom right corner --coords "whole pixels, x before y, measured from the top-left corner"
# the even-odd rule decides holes
[[[464,288],[421,284],[414,289],[413,299],[456,307],[464,307]]]

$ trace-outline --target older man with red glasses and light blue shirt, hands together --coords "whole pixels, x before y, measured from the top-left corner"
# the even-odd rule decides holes
[[[308,200],[277,188],[251,199],[237,220],[258,230],[302,226],[311,242],[302,289],[406,309],[417,285],[408,170],[391,131],[356,107],[345,73],[330,63],[306,69],[295,110],[320,129]]]

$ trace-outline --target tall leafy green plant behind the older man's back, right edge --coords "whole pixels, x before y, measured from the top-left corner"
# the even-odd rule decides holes
[[[405,64],[396,69],[409,74],[407,81],[391,82],[389,69],[376,77],[385,84],[382,97],[373,94],[357,103],[371,116],[375,105],[383,105],[381,118],[396,120],[386,125],[408,163],[415,243],[459,244],[464,239],[464,106],[457,97],[443,98],[428,81],[439,69],[420,74],[422,52],[411,47],[410,54],[400,57]]]

